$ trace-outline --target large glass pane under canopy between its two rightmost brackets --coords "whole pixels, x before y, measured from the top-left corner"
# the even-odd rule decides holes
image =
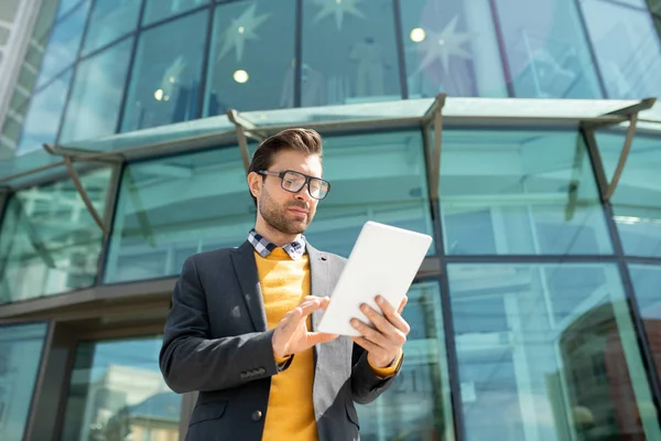
[[[447,254],[613,252],[577,132],[445,130],[441,155]]]

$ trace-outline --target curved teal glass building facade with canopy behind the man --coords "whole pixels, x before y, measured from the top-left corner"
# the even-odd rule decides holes
[[[325,139],[317,248],[434,237],[361,439],[661,440],[661,1],[42,0],[31,42],[0,90],[1,440],[183,440],[171,291],[246,239],[286,127]]]

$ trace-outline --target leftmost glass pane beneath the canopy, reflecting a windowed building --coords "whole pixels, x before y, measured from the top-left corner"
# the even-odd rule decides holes
[[[82,176],[102,214],[109,170]],[[71,180],[18,191],[0,229],[0,303],[54,294],[94,283],[102,233]]]

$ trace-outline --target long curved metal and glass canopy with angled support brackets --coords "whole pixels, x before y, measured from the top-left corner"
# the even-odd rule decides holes
[[[94,170],[111,163],[155,155],[182,153],[214,146],[238,144],[246,171],[250,162],[248,140],[261,141],[290,127],[307,127],[326,133],[421,128],[425,135],[427,181],[433,198],[438,196],[441,143],[444,127],[465,125],[514,127],[522,123],[576,123],[586,130],[627,125],[627,137],[617,172],[605,192],[608,200],[617,186],[637,129],[661,133],[661,108],[655,98],[642,100],[604,99],[529,99],[529,98],[455,98],[440,94],[435,98],[376,101],[355,105],[307,107],[239,112],[156,127],[130,133],[44,146],[44,150],[0,161],[0,186],[25,187],[67,175],[95,222],[107,233],[108,225],[96,213],[78,171]],[[433,137],[431,132],[433,130]]]

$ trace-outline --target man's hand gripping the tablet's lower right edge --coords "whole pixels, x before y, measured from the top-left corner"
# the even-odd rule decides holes
[[[375,329],[366,325],[358,319],[351,320],[351,325],[362,335],[351,337],[354,343],[367,351],[367,361],[376,368],[389,367],[399,357],[402,346],[407,343],[407,335],[411,331],[409,323],[400,315],[409,301],[404,297],[402,303],[395,310],[386,299],[377,295],[377,304],[383,315],[362,304],[360,310],[375,325]]]

